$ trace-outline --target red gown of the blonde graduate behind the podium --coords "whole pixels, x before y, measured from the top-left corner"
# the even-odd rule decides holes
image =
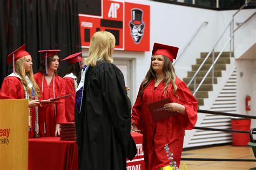
[[[16,76],[5,77],[1,92],[3,95],[13,97],[15,99],[25,98],[25,92],[21,83],[21,79]],[[29,138],[35,137],[36,110],[29,108],[31,117],[31,126],[29,128]]]

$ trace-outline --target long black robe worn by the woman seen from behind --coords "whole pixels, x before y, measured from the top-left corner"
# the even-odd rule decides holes
[[[126,169],[137,153],[131,137],[131,102],[122,72],[98,62],[85,75],[82,107],[75,115],[79,169]]]

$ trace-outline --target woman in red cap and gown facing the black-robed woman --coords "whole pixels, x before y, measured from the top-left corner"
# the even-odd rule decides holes
[[[179,167],[185,130],[193,129],[197,122],[198,101],[174,72],[172,61],[177,53],[177,47],[154,44],[150,69],[132,108],[132,130],[143,133],[148,170],[172,169],[164,148],[166,144]],[[166,103],[163,109],[177,115],[154,121],[146,104],[164,98],[170,98],[171,103]]]

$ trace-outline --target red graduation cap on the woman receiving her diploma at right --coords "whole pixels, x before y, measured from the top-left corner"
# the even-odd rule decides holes
[[[165,55],[167,58],[173,61],[173,59],[176,59],[176,56],[178,54],[178,47],[173,47],[169,45],[154,43],[154,47],[152,50],[152,55]]]

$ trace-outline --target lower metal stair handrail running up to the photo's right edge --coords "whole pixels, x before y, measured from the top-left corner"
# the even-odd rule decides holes
[[[230,36],[230,38],[227,40],[226,44],[224,45],[224,47],[221,49],[219,55],[217,56],[217,58],[214,60],[214,62],[212,63],[211,67],[208,69],[207,73],[205,74],[205,76],[203,77],[203,79],[201,80],[201,82],[198,84],[198,87],[196,88],[196,90],[194,90],[193,95],[195,95],[197,93],[197,91],[199,90],[199,88],[201,87],[201,84],[203,84],[203,82],[205,81],[206,77],[208,76],[208,74],[211,72],[211,70],[213,69],[215,63],[218,61],[218,59],[220,58],[220,55],[224,52],[224,49],[226,48],[226,46],[228,45],[228,43],[231,41],[231,39],[234,36],[235,31],[237,31],[242,25],[244,25],[244,23],[248,22],[248,20],[250,20],[254,15],[256,14],[256,12],[254,12],[250,17],[248,17],[237,29],[235,29],[232,33],[232,35]]]

